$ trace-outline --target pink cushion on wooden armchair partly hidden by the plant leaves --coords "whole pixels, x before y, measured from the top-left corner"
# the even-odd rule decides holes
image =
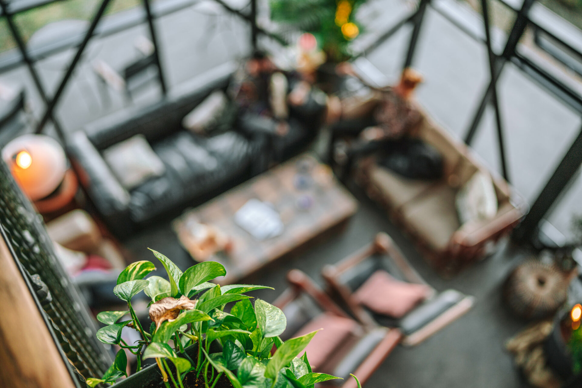
[[[303,336],[311,333],[314,330],[320,330],[311,342],[305,348],[307,359],[311,364],[311,368],[317,371],[317,368],[325,364],[325,361],[333,354],[333,351],[338,348],[343,341],[356,333],[359,325],[353,319],[345,318],[324,312],[316,316],[311,321],[307,322],[303,328],[299,329],[294,337]],[[303,355],[303,353],[301,353]]]

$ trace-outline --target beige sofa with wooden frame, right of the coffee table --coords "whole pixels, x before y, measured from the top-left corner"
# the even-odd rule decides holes
[[[422,110],[421,110],[422,112]],[[456,193],[478,169],[486,170],[460,141],[423,113],[419,136],[437,148],[444,158],[445,173],[438,181],[406,179],[362,159],[356,176],[370,197],[388,209],[391,218],[416,241],[428,261],[442,273],[453,275],[484,257],[492,243],[508,233],[527,212],[527,205],[512,196],[509,184],[492,174],[498,200],[494,218],[460,225]]]

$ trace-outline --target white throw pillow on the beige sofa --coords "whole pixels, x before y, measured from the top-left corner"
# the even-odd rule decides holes
[[[497,214],[497,195],[491,176],[475,172],[460,188],[455,202],[461,224],[493,218]]]

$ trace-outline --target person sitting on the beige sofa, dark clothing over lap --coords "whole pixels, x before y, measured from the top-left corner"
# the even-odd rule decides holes
[[[353,77],[347,64],[342,64],[339,72]],[[379,164],[404,177],[441,177],[442,156],[418,137],[423,118],[410,102],[421,81],[420,74],[405,69],[396,87],[377,89],[362,84],[359,91],[343,96],[342,119],[332,128],[332,141],[339,136],[359,137],[349,148],[333,150],[333,159],[345,166],[346,173],[354,159],[375,153]]]

